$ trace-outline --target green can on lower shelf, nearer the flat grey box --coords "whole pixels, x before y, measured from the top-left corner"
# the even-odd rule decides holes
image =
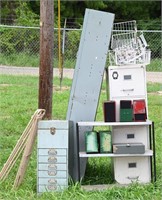
[[[112,152],[111,131],[99,131],[100,153]]]

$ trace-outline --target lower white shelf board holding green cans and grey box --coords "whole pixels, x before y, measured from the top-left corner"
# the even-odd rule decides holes
[[[146,157],[153,156],[152,150],[146,150],[144,154],[114,154],[114,153],[86,153],[80,152],[79,157],[81,158],[89,158],[89,157]]]

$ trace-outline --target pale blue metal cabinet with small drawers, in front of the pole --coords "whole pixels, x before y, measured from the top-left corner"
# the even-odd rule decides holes
[[[37,192],[68,187],[69,121],[48,120],[38,124]]]

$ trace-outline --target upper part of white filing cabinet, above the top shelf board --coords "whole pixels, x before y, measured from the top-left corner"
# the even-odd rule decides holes
[[[120,121],[120,100],[144,99],[147,106],[146,67],[144,65],[109,67],[110,100],[116,102],[116,121]]]

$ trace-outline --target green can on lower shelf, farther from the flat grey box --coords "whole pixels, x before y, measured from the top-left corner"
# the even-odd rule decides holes
[[[98,153],[98,134],[96,131],[85,132],[86,153]]]

